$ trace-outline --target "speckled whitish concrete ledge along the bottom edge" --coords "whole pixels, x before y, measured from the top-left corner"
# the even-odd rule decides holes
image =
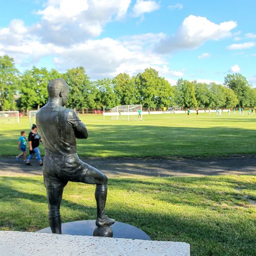
[[[189,255],[180,242],[0,231],[1,255]]]

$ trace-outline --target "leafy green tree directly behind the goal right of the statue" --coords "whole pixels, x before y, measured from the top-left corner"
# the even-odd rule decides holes
[[[128,74],[120,73],[113,78],[114,92],[120,105],[133,105],[138,103],[138,89],[135,79]]]

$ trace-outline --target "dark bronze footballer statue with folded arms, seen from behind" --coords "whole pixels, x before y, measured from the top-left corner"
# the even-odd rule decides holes
[[[42,172],[47,189],[49,222],[53,233],[61,233],[60,203],[68,181],[96,184],[98,227],[115,223],[104,213],[108,178],[82,162],[76,154],[76,138],[87,139],[88,132],[74,110],[66,109],[69,87],[61,78],[48,84],[49,101],[36,114],[36,123],[45,146]]]

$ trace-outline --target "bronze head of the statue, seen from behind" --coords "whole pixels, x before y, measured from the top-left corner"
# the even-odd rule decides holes
[[[69,86],[62,78],[55,78],[47,86],[49,98],[61,99],[61,104],[66,105],[69,93]]]

